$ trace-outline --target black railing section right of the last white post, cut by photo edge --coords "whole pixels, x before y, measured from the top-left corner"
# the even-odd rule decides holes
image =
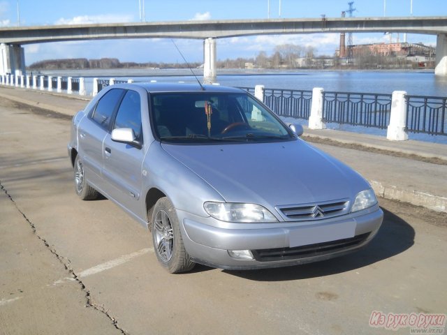
[[[406,96],[406,129],[412,133],[447,135],[447,98]]]

